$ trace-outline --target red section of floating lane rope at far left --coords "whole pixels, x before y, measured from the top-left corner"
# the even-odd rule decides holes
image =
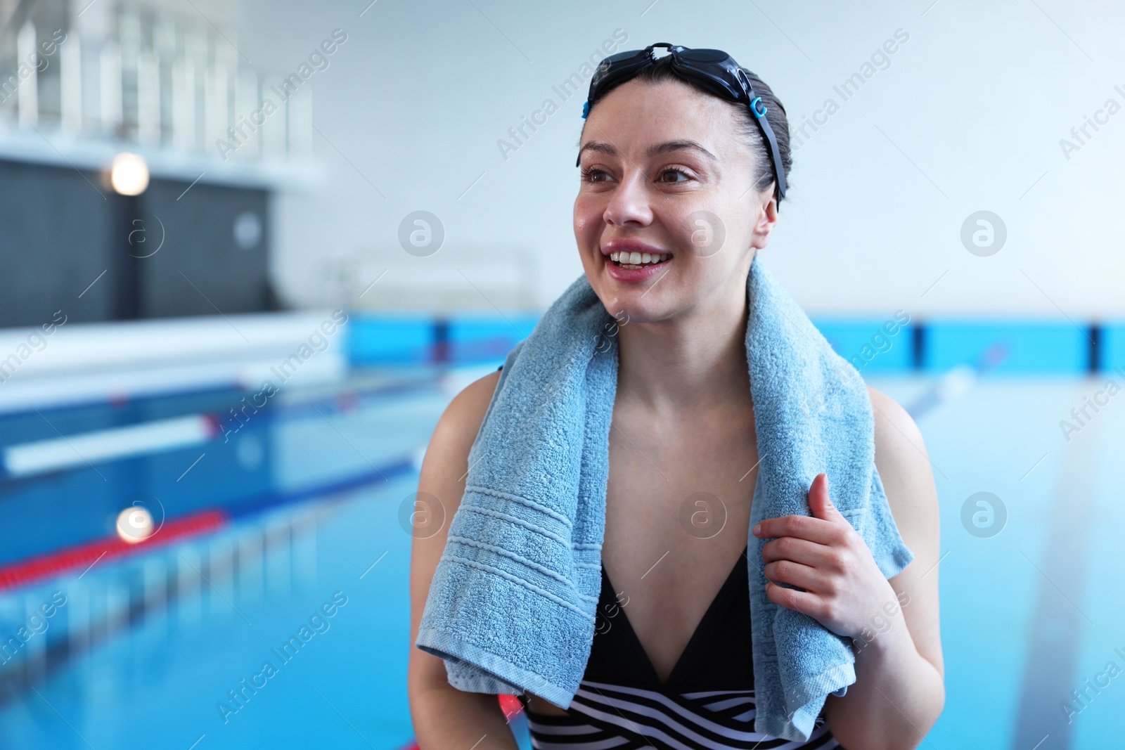
[[[190,516],[164,522],[160,531],[143,542],[125,542],[117,536],[104,536],[91,542],[63,548],[55,552],[26,558],[0,566],[0,591],[57,576],[74,569],[86,569],[101,560],[146,552],[169,542],[196,536],[225,526],[227,515],[223,510],[202,510]]]

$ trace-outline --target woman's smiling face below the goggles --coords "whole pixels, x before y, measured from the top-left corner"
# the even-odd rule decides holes
[[[612,315],[663,320],[745,293],[777,215],[774,188],[753,188],[754,154],[734,107],[678,80],[633,79],[591,109],[579,154],[574,235]],[[616,252],[627,264],[632,253],[650,260],[620,268]],[[654,254],[668,257],[654,265]]]

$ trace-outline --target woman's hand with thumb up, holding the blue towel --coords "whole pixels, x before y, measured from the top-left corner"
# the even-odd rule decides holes
[[[809,508],[812,516],[768,518],[754,526],[755,536],[772,540],[762,549],[766,596],[838,635],[856,638],[888,602],[896,602],[894,589],[866,542],[828,499],[828,475],[812,480]]]

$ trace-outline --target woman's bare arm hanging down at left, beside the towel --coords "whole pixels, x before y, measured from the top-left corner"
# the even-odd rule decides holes
[[[431,536],[415,528],[411,550],[411,657],[407,693],[421,750],[515,750],[495,695],[465,693],[449,684],[446,665],[414,647],[418,622],[438,560],[446,549],[449,522],[461,504],[468,455],[496,389],[500,372],[470,383],[446,408],[422,461],[418,493],[440,504],[444,523]],[[422,499],[430,499],[421,495]],[[432,500],[431,500],[432,501]]]

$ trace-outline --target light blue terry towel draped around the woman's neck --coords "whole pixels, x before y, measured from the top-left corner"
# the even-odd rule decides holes
[[[763,489],[750,526],[808,515],[825,472],[832,503],[890,578],[914,555],[875,471],[866,386],[759,259],[747,279]],[[562,708],[578,688],[601,590],[616,333],[582,275],[507,354],[416,641],[446,660],[457,688],[531,692]],[[855,681],[855,654],[847,639],[766,598],[765,540],[748,540],[754,729],[803,741],[828,694]]]

